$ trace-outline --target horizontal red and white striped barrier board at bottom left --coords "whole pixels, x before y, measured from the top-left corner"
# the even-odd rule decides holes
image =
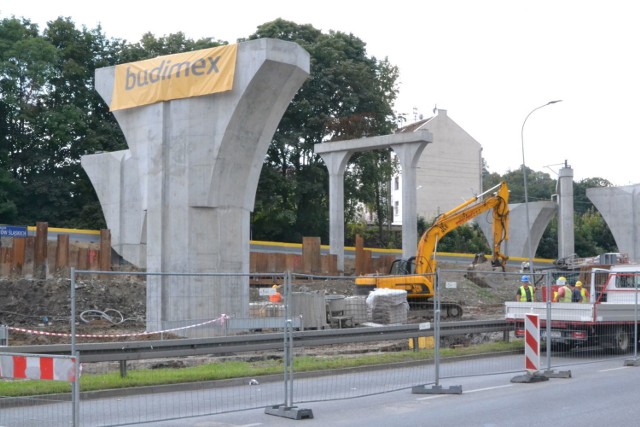
[[[76,358],[3,353],[0,378],[76,382]]]

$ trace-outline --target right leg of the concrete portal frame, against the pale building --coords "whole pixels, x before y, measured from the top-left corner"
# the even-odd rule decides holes
[[[416,211],[416,164],[426,142],[392,145],[402,166],[402,257],[416,255],[418,246],[418,213]]]

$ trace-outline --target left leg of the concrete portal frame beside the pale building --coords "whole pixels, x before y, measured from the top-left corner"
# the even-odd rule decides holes
[[[344,272],[344,170],[352,154],[350,151],[320,154],[329,170],[329,252],[336,255],[341,272]]]

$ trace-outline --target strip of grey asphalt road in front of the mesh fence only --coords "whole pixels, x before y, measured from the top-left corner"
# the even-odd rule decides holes
[[[463,393],[381,395],[313,402],[313,419],[291,420],[263,409],[154,423],[158,427],[258,426],[632,426],[638,423],[640,368],[620,359],[566,366],[569,379],[512,383],[514,374],[457,378],[442,386],[463,385]],[[298,423],[298,424],[296,424]]]

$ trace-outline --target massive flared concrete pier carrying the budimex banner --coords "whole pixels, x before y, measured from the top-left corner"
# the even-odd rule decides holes
[[[299,45],[258,39],[238,45],[232,90],[114,111],[129,149],[82,158],[114,248],[150,273],[249,273],[262,163],[308,75]],[[115,67],[96,70],[108,104],[114,83]],[[147,278],[149,331],[222,314],[248,317],[248,276]]]

